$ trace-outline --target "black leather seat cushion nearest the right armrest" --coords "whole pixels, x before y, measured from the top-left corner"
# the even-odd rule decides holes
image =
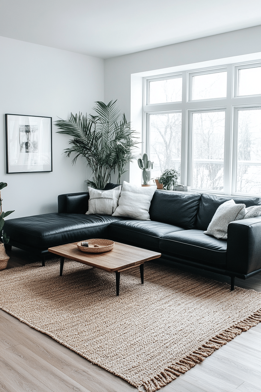
[[[160,250],[213,264],[226,264],[227,241],[203,234],[203,230],[184,230],[166,234],[159,240]]]

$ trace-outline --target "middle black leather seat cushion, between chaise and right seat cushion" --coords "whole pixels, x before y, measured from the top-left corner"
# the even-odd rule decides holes
[[[126,219],[126,218],[125,218]],[[142,245],[146,248],[158,249],[158,240],[167,233],[184,230],[181,227],[155,221],[122,220],[113,222],[108,227],[110,237],[119,238]]]

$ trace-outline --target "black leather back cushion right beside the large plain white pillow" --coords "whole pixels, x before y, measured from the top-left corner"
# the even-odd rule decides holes
[[[193,229],[201,194],[155,191],[149,208],[151,220]]]

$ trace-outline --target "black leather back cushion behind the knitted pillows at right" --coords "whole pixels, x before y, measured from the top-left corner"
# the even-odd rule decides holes
[[[208,225],[218,207],[230,199],[233,199],[236,204],[244,203],[246,207],[259,205],[261,203],[261,199],[259,197],[241,198],[235,196],[216,196],[203,193],[200,200],[196,228],[199,230],[207,230]]]

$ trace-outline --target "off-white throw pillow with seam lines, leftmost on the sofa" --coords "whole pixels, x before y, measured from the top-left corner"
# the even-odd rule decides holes
[[[86,214],[112,215],[118,207],[121,185],[109,191],[99,191],[88,187],[90,194],[89,209]]]

